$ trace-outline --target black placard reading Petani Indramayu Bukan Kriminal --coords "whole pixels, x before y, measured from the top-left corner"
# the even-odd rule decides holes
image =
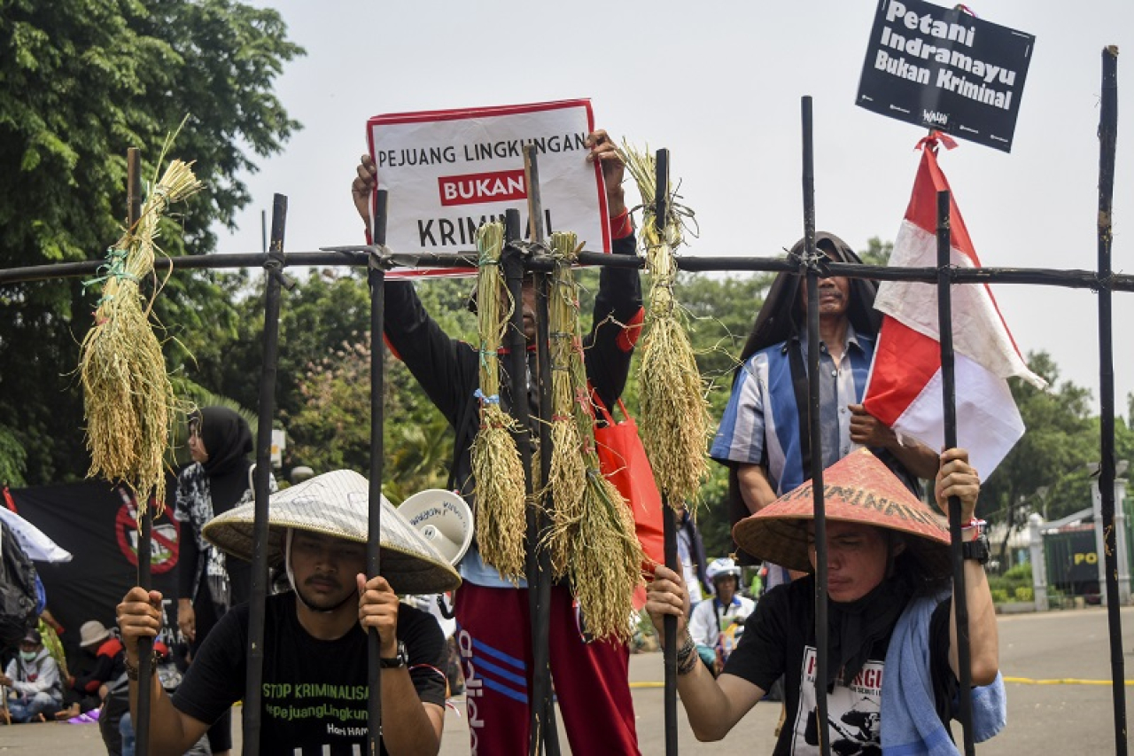
[[[857,104],[1012,151],[1035,37],[921,0],[879,0]]]

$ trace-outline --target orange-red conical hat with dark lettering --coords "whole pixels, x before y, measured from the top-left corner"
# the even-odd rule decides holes
[[[861,448],[823,471],[827,519],[861,522],[906,534],[907,548],[926,574],[950,574],[946,520],[919,501],[877,456]],[[811,572],[807,522],[814,519],[812,482],[745,518],[733,528],[737,545],[753,556]]]

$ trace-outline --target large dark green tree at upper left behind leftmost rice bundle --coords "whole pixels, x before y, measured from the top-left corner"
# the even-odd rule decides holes
[[[271,87],[303,51],[274,10],[232,0],[11,0],[0,51],[0,267],[102,257],[121,233],[126,149],[143,150],[151,176],[186,114],[171,154],[195,160],[208,188],[180,209],[180,227],[166,225],[162,244],[171,255],[211,252],[212,224],[231,224],[248,201],[240,171],[297,127]],[[155,314],[195,351],[235,331],[226,286],[215,274],[170,277]],[[70,373],[96,297],[74,279],[0,291],[0,434],[19,445],[31,482],[86,470]],[[177,342],[167,353],[174,368],[186,359]]]

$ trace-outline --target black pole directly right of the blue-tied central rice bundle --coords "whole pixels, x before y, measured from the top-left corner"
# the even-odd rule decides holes
[[[536,580],[539,566],[535,552],[535,534],[538,523],[535,514],[531,507],[533,480],[532,480],[532,427],[531,409],[527,404],[527,338],[524,336],[524,260],[519,249],[513,242],[521,241],[523,232],[519,227],[519,212],[510,209],[505,213],[505,247],[500,255],[500,263],[503,269],[505,282],[508,285],[508,294],[513,301],[511,322],[505,336],[505,346],[508,347],[508,385],[511,392],[511,417],[516,421],[516,450],[519,452],[519,460],[524,467],[524,501],[526,515],[526,544],[524,554],[524,574],[527,578],[528,612],[532,622],[532,689],[528,697],[528,754],[538,755],[542,753],[543,742],[543,720],[547,713],[547,699],[550,698],[550,686],[548,684],[548,666],[540,666],[535,661],[535,644],[539,632],[545,629],[536,628],[539,612],[535,600],[539,591]]]

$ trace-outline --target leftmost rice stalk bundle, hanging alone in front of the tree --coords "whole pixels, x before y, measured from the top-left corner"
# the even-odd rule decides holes
[[[180,160],[169,165],[150,185],[137,222],[108,252],[102,275],[91,282],[102,284],[102,299],[79,356],[91,451],[87,476],[125,482],[138,502],[138,518],[151,494],[159,514],[164,505],[163,457],[177,412],[161,342],[154,334],[161,326],[154,322],[151,328],[150,322],[153,300],[163,282],[154,277],[149,299],[139,286],[154,275],[162,216],[171,204],[202,187],[191,165]]]

